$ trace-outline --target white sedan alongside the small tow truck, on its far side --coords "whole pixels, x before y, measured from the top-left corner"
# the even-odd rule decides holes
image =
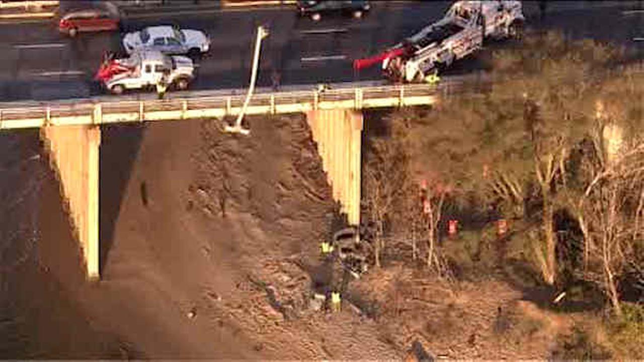
[[[123,46],[128,53],[155,50],[164,54],[198,55],[210,50],[210,39],[199,30],[174,26],[148,26],[140,32],[127,33]]]

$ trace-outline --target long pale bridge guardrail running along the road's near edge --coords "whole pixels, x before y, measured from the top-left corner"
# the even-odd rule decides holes
[[[325,91],[258,93],[251,98],[246,113],[258,115],[432,104],[439,93],[459,91],[461,86],[462,84],[451,84],[439,89],[427,84],[404,84]],[[243,95],[167,100],[120,100],[115,97],[114,101],[110,102],[84,100],[77,103],[59,102],[43,106],[0,108],[0,129],[222,118],[238,115],[244,99]]]

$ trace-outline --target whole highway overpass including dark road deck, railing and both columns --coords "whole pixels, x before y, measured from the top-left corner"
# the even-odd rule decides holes
[[[91,77],[104,50],[120,50],[118,33],[83,34],[68,39],[55,31],[51,20],[0,24],[7,34],[0,39],[0,50],[6,55],[0,66],[0,100],[72,98],[67,102],[44,105],[34,105],[33,102],[5,104],[0,110],[0,129],[43,129],[42,135],[48,141],[54,166],[61,178],[63,195],[69,200],[70,216],[84,245],[88,274],[96,277],[99,274],[98,150],[101,124],[222,119],[236,115],[243,95],[212,90],[245,86],[251,63],[254,28],[257,24],[268,24],[270,37],[264,44],[259,84],[269,84],[270,71],[277,70],[287,86],[279,93],[256,95],[248,113],[307,113],[313,136],[319,145],[328,146],[330,142],[336,142],[337,134],[346,133],[346,137],[337,141],[341,146],[331,148],[334,149],[331,153],[324,145],[320,146],[319,151],[328,171],[336,167],[330,165],[339,162],[334,155],[355,154],[354,146],[351,146],[355,141],[348,141],[354,139],[354,136],[350,136],[356,124],[352,120],[353,111],[431,104],[435,101],[435,90],[428,86],[365,86],[366,81],[381,78],[379,69],[376,66],[355,74],[350,66],[351,61],[379,52],[439,19],[450,3],[382,2],[377,3],[374,11],[365,19],[325,19],[319,23],[298,19],[288,8],[234,12],[178,11],[173,14],[132,12],[124,21],[126,31],[149,24],[175,23],[185,28],[204,30],[213,38],[211,52],[199,62],[194,84],[196,90],[207,90],[205,94],[178,92],[164,102],[149,100],[150,95],[142,93],[129,97],[77,99],[102,93]],[[630,10],[638,8],[639,3],[557,2],[549,6],[545,19],[537,19],[536,3],[526,2],[525,12],[528,24],[533,28],[561,29],[572,37],[628,44],[638,50],[638,44],[644,42],[638,43],[633,39],[641,35],[644,27],[641,26],[641,15]],[[602,26],[597,26],[599,23]],[[605,31],[607,24],[611,24],[610,32]],[[469,59],[456,64],[451,73],[470,72],[481,66],[476,58]],[[348,88],[323,94],[311,91],[314,88],[314,84],[310,84],[312,82],[334,81],[354,83]],[[310,85],[298,90],[297,86],[292,86],[294,84]],[[446,82],[442,88],[450,88],[451,85],[452,82]],[[336,122],[330,122],[329,119]],[[361,129],[361,122],[357,123]],[[347,124],[354,126],[345,127]],[[336,126],[341,127],[342,131],[332,131]],[[330,182],[336,185],[334,189],[345,190],[337,191],[334,196],[345,205],[350,222],[357,224],[359,211],[355,211],[355,205],[359,205],[359,191],[348,193],[346,190],[352,189],[352,186],[338,186],[341,183],[337,180],[347,172],[355,173],[355,167],[359,167],[359,164],[355,166],[352,162],[348,164],[353,165],[350,168],[353,167],[354,171],[347,171],[343,168],[345,166],[341,167],[342,171],[331,171]],[[79,165],[81,167],[77,167]]]

